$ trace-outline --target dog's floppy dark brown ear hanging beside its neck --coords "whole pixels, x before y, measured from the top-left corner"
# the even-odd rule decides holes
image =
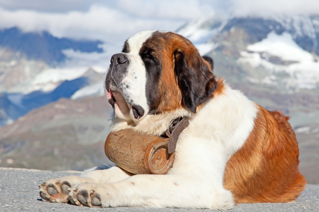
[[[217,82],[210,64],[198,51],[177,50],[174,52],[175,74],[182,90],[184,106],[196,113],[198,105],[209,99],[215,91]]]

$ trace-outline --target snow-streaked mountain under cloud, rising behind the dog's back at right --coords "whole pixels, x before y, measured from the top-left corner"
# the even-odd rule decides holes
[[[268,109],[319,110],[319,16],[210,17],[180,28],[214,72]]]

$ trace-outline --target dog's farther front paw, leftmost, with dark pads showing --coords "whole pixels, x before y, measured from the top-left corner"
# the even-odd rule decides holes
[[[85,182],[85,179],[78,176],[49,179],[39,184],[40,196],[48,202],[69,202],[69,190],[71,186],[81,182]]]

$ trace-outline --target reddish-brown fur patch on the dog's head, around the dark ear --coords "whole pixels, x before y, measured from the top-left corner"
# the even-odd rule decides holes
[[[157,90],[158,96],[156,102],[152,104],[152,107],[155,108],[155,113],[169,112],[184,106],[182,101],[183,91],[175,73],[175,58],[177,57],[176,54],[178,55],[180,52],[183,52],[187,66],[195,70],[196,73],[193,73],[194,76],[207,77],[207,74],[202,73],[203,70],[201,70],[201,67],[203,66],[207,66],[207,70],[210,71],[212,80],[207,82],[206,85],[201,85],[203,86],[203,88],[200,89],[201,92],[202,90],[209,90],[210,87],[215,86],[215,78],[212,74],[211,65],[200,56],[195,46],[181,35],[172,32],[156,31],[145,41],[140,51],[151,53],[162,68],[158,85],[154,85],[157,86],[154,87],[154,90]],[[206,80],[208,81],[209,79],[199,78],[197,83],[200,85],[200,83],[206,82]]]

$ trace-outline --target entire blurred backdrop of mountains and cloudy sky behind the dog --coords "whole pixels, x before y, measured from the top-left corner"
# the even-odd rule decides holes
[[[110,57],[141,30],[174,31],[215,74],[291,117],[319,183],[319,1],[0,0],[0,167],[83,170],[104,154]]]

